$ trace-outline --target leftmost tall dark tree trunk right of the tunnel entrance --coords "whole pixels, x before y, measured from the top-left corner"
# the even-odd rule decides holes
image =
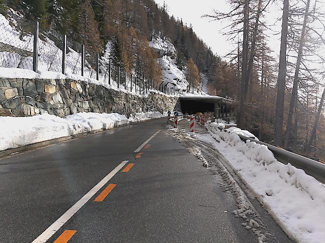
[[[240,106],[239,106],[239,126],[244,128],[244,93],[245,93],[245,78],[247,71],[247,36],[248,36],[248,0],[244,0],[244,23],[243,23],[243,38],[242,38],[242,68],[241,68],[241,82],[240,82]]]

